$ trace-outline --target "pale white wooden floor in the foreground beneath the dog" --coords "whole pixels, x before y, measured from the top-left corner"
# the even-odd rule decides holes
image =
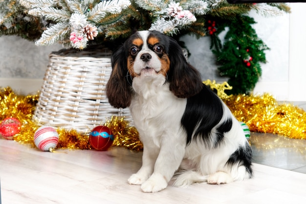
[[[143,193],[127,179],[141,166],[142,153],[41,152],[0,138],[2,204],[305,204],[306,174],[254,163],[251,180],[223,185],[169,186]],[[1,202],[0,202],[1,203]]]

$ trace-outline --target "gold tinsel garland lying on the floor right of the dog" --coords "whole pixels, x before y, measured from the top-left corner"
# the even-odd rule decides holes
[[[224,102],[251,132],[306,139],[306,112],[293,104],[278,103],[271,94],[234,95]]]

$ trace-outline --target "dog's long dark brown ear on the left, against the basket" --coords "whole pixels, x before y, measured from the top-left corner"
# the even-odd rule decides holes
[[[131,85],[126,77],[127,53],[122,45],[112,56],[112,71],[106,85],[109,104],[115,108],[126,108],[131,104]]]

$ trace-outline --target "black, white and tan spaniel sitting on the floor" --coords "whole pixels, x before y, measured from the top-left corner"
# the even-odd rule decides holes
[[[142,166],[128,179],[143,192],[195,182],[249,179],[252,149],[239,121],[158,31],[138,31],[112,57],[109,103],[129,107],[143,143]],[[175,175],[175,177],[174,177]]]

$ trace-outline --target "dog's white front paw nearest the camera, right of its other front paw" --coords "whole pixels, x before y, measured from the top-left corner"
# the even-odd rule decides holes
[[[141,190],[145,193],[154,193],[165,189],[167,185],[168,182],[164,179],[162,175],[152,175],[150,179],[148,179],[141,185]]]

